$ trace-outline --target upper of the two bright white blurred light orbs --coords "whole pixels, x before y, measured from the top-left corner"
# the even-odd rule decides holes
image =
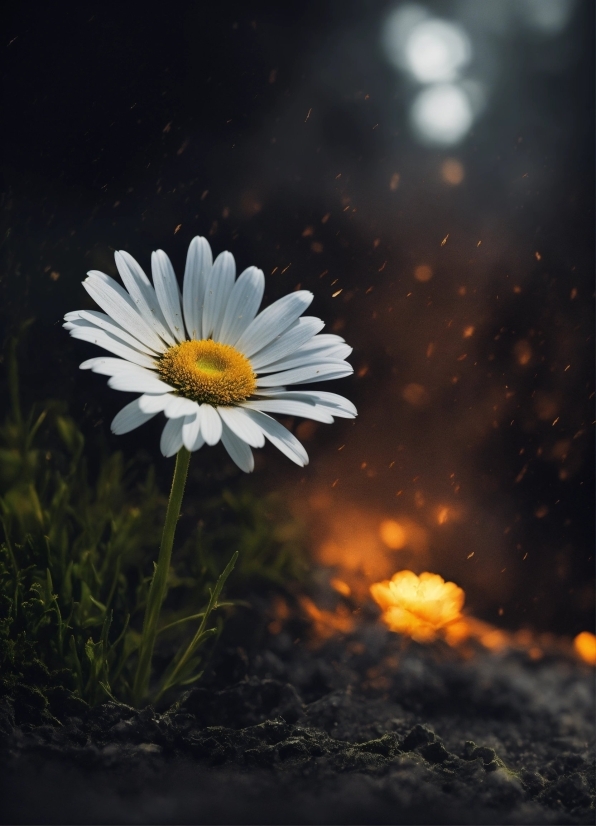
[[[405,43],[405,64],[420,83],[455,80],[470,62],[472,47],[465,31],[445,20],[415,25]]]

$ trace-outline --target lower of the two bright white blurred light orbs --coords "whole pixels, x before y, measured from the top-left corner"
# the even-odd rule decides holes
[[[452,146],[468,133],[474,114],[464,89],[453,83],[437,83],[418,94],[410,120],[423,143]]]

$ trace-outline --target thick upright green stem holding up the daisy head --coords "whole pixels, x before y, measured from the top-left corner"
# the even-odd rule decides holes
[[[189,451],[185,447],[180,448],[176,455],[176,467],[174,469],[174,478],[172,479],[172,490],[170,491],[170,499],[168,501],[166,521],[161,537],[159,557],[153,573],[145,608],[143,633],[139,645],[139,661],[133,685],[133,700],[135,706],[141,704],[149,688],[151,659],[153,657],[153,647],[157,636],[157,622],[166,594],[170,559],[172,557],[172,545],[174,544],[176,524],[180,516],[180,506],[182,505],[189,462]]]

